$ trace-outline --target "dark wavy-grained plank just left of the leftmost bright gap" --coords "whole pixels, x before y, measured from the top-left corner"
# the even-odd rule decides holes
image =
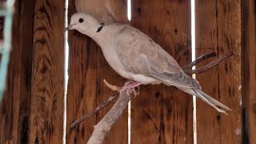
[[[30,143],[62,143],[64,14],[63,0],[35,2]]]

